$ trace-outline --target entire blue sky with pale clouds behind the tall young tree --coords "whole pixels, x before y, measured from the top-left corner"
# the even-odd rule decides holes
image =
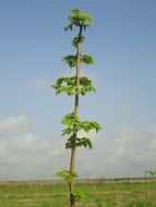
[[[50,180],[68,169],[61,119],[74,99],[56,96],[59,76],[73,74],[75,53],[64,32],[72,9],[93,16],[82,75],[97,89],[80,99],[80,117],[98,121],[93,150],[77,149],[80,178],[144,176],[156,170],[156,1],[0,0],[0,181]]]

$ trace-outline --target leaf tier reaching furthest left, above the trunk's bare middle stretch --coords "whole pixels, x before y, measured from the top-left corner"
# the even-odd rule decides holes
[[[92,81],[87,77],[80,77],[80,87],[76,87],[76,77],[59,77],[55,85],[52,85],[56,89],[56,95],[61,93],[65,93],[69,96],[73,95],[82,95],[84,96],[86,93],[96,92],[92,86]]]

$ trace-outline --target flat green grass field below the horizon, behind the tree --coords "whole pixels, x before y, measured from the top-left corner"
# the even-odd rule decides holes
[[[156,207],[155,182],[81,183],[91,200],[76,207]],[[0,207],[69,207],[68,186],[48,182],[1,183]]]

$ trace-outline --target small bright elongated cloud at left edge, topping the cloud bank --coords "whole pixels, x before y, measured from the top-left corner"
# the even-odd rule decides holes
[[[27,124],[24,115],[12,117],[7,120],[0,121],[0,134],[12,131],[13,129],[21,127]]]

